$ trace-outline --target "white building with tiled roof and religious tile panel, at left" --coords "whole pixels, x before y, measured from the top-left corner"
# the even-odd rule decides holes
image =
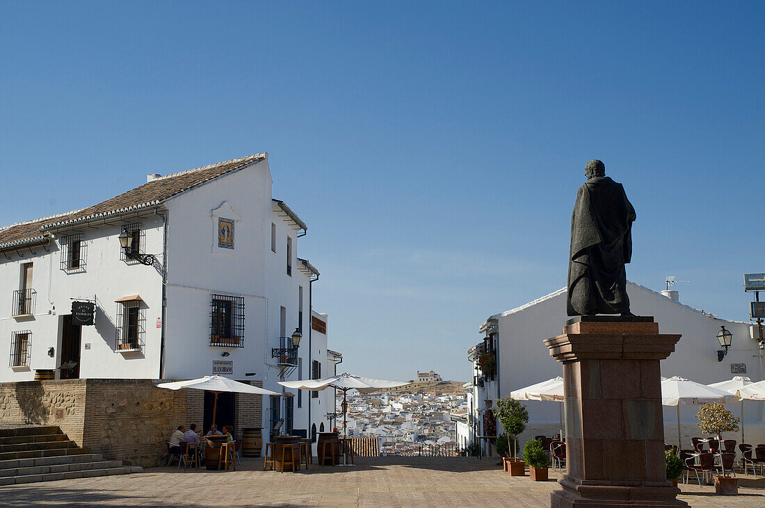
[[[272,199],[268,154],[147,180],[0,228],[0,381],[225,374],[285,393],[279,380],[334,371],[327,316],[312,311],[319,272],[298,257],[308,226]],[[273,397],[252,425],[264,438],[280,418],[282,430],[329,425],[331,393],[308,400]],[[233,411],[219,397],[219,421]]]

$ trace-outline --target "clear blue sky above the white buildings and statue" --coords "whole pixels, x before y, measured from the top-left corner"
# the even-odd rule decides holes
[[[462,380],[484,319],[565,286],[599,158],[637,211],[630,280],[747,319],[763,21],[761,2],[4,2],[0,222],[268,151],[347,370]]]

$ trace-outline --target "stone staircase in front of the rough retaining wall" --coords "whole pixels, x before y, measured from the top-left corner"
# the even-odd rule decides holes
[[[139,466],[105,461],[54,426],[0,429],[0,485],[139,473]]]

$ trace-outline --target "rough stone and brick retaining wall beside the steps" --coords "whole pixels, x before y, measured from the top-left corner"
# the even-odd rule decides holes
[[[202,426],[202,390],[164,390],[152,380],[89,379],[0,383],[0,422],[58,425],[107,459],[161,464],[178,425]],[[256,385],[261,386],[259,381]],[[236,394],[235,436],[261,426],[262,396]]]

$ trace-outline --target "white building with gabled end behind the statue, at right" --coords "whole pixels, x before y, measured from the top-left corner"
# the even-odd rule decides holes
[[[664,377],[682,376],[698,383],[715,383],[734,376],[747,376],[753,381],[763,379],[763,350],[751,338],[751,325],[720,319],[716,315],[679,303],[676,291],[657,293],[645,286],[628,283],[630,306],[636,315],[653,315],[659,323],[659,333],[682,334],[675,352],[661,362]],[[562,365],[550,357],[542,342],[560,335],[566,316],[566,290],[555,291],[531,303],[492,315],[480,327],[483,341],[468,350],[473,381],[466,386],[469,416],[457,423],[457,441],[473,442],[483,435],[483,415],[493,400],[508,396],[513,390],[529,386],[552,377],[562,376]],[[733,334],[728,354],[718,361],[721,349],[716,338],[724,326]],[[493,360],[492,360],[493,357]],[[484,371],[479,367],[483,361]],[[555,435],[559,428],[559,403],[524,402],[529,410],[529,425],[522,441],[534,435]],[[731,407],[738,416],[739,406]],[[684,446],[690,438],[701,435],[695,425],[698,406],[681,406],[681,430]],[[665,407],[666,441],[677,441],[677,413],[675,407]],[[763,442],[763,403],[745,404],[744,423],[747,442]],[[498,432],[502,432],[498,425]],[[741,439],[731,433],[730,438]],[[751,439],[750,439],[751,438]]]

